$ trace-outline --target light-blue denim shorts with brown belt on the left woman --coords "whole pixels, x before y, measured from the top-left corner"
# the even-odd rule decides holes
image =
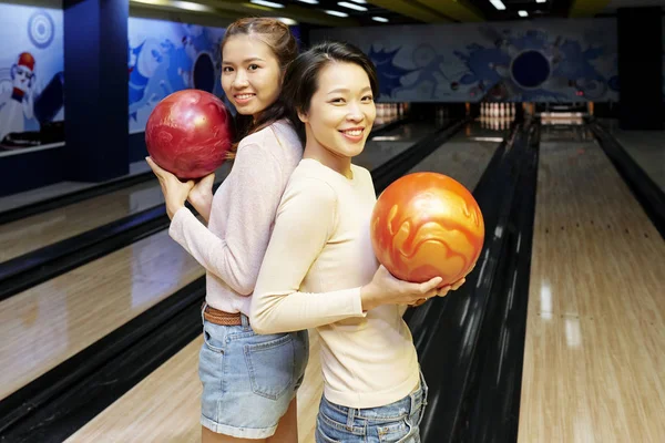
[[[244,315],[242,322],[203,319],[201,424],[219,434],[266,439],[303,383],[309,338],[307,330],[260,336]]]

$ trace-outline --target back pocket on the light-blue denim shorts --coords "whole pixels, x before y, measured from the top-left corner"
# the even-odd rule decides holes
[[[296,350],[291,334],[245,344],[245,361],[252,392],[272,400],[279,399],[294,382]]]

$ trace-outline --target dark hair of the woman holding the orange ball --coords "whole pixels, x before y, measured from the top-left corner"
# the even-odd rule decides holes
[[[369,78],[375,99],[379,96],[377,70],[371,60],[356,45],[345,42],[325,42],[303,52],[289,64],[282,85],[287,117],[296,128],[303,145],[305,145],[305,124],[298,119],[298,112],[309,111],[311,96],[318,90],[320,71],[335,62],[355,63],[362,68]]]

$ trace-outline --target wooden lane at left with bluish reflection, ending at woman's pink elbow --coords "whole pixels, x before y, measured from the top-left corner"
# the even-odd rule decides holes
[[[203,275],[162,231],[0,301],[0,400]]]

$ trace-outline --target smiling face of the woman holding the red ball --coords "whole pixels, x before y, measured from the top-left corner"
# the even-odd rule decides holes
[[[260,39],[229,38],[222,60],[222,87],[239,114],[256,117],[277,100],[282,89],[279,61]]]

